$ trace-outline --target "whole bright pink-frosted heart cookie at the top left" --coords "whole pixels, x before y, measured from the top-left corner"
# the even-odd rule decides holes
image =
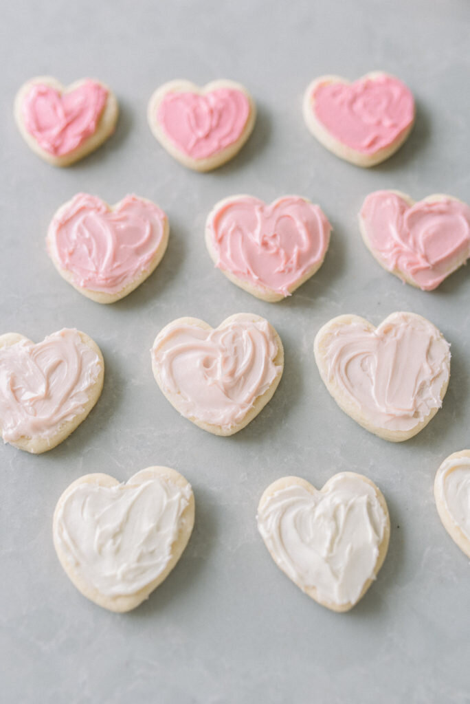
[[[118,101],[98,80],[82,78],[65,87],[52,76],[38,76],[16,94],[15,120],[32,151],[53,166],[69,166],[113,134]]]

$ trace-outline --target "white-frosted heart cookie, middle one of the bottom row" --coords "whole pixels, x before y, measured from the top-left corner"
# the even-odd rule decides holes
[[[386,501],[362,474],[335,474],[320,491],[300,477],[278,479],[262,494],[257,520],[277,566],[334,611],[364,596],[386,557]]]

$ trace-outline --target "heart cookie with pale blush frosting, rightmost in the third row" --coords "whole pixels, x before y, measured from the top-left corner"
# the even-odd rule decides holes
[[[320,376],[338,406],[392,442],[416,435],[436,415],[450,378],[450,345],[416,313],[392,313],[379,327],[340,315],[315,337]]]

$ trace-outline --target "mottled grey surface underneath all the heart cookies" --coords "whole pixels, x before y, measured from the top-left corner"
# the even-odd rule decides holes
[[[470,446],[468,269],[438,291],[402,285],[375,263],[357,230],[364,196],[379,188],[416,199],[443,191],[468,201],[470,6],[466,0],[124,1],[3,3],[1,64],[1,332],[39,341],[78,327],[101,346],[103,394],[89,419],[39,457],[0,447],[0,698],[8,704],[276,703],[463,704],[469,701],[470,565],[440,524],[433,477]],[[332,156],[303,123],[313,77],[384,69],[417,98],[417,125],[393,158],[360,170]],[[68,170],[27,149],[12,115],[20,84],[96,76],[121,116],[105,146]],[[175,77],[246,84],[259,106],[250,142],[206,175],[185,170],[146,124],[153,89]],[[170,245],[128,298],[99,306],[58,276],[44,247],[54,210],[77,191],[111,203],[134,191],[163,207]],[[334,225],[322,269],[283,303],[234,287],[203,243],[213,203],[247,192],[298,193]],[[388,444],[343,415],[319,379],[319,326],[340,313],[374,323],[414,310],[452,343],[443,409],[419,436]],[[179,417],[151,373],[148,350],[173,318],[217,325],[265,315],[286,367],[269,406],[231,438]],[[170,465],[191,482],[196,526],[181,562],[127,615],[75,589],[51,541],[54,505],[85,472],[125,480]],[[363,472],[390,508],[390,551],[357,608],[334,614],[272,562],[255,527],[265,486],[296,473],[322,485]]]

